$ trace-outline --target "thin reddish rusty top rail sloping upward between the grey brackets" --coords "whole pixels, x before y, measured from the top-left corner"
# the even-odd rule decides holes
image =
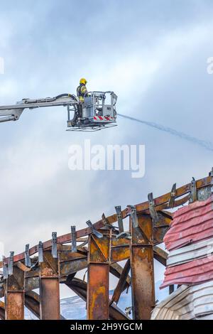
[[[207,176],[206,178],[202,178],[202,179],[196,181],[196,188],[197,188],[197,190],[199,190],[201,188],[211,186],[211,184],[212,184],[212,176]],[[175,198],[179,198],[182,195],[186,195],[187,193],[190,193],[190,191],[191,191],[191,183],[187,183],[186,185],[182,185],[182,187],[176,189]],[[163,210],[163,208],[168,208],[168,203],[170,201],[170,198],[171,198],[171,192],[166,193],[165,195],[161,195],[158,198],[155,198],[156,210]],[[175,207],[179,206],[181,203],[182,203],[182,199],[177,200],[177,203],[175,201],[173,207],[175,208]],[[159,205],[164,205],[164,206],[160,208]],[[148,210],[148,208],[149,208],[148,201],[136,205],[137,212],[146,211],[146,210]],[[123,218],[127,217],[129,215],[129,210],[124,209],[121,212],[121,215],[122,215]],[[116,214],[107,217],[107,222],[109,222],[109,224],[113,224],[116,221],[117,221],[117,215]],[[104,227],[103,220],[99,220],[98,222],[96,222],[94,224],[94,227],[96,229],[100,229],[100,228]],[[86,235],[88,235],[91,232],[92,231],[91,231],[90,228],[84,228],[82,230],[77,231],[76,237],[77,237],[77,239],[81,238],[81,237],[85,237]],[[62,236],[58,237],[57,242],[58,242],[58,244],[64,244],[64,243],[70,242],[71,239],[72,239],[71,238],[71,233],[67,233],[67,235],[62,235]],[[48,240],[47,242],[44,242],[43,243],[43,249],[50,248],[51,247],[51,242],[52,242],[52,240]],[[31,249],[29,249],[29,254],[30,255],[33,255],[37,252],[38,252],[38,245],[35,245]],[[25,258],[25,252],[16,255],[14,257],[14,262],[21,261],[24,258]],[[6,258],[5,263],[7,264],[8,262],[9,262],[9,258]],[[0,268],[2,267],[2,265],[3,265],[2,262],[0,262]]]

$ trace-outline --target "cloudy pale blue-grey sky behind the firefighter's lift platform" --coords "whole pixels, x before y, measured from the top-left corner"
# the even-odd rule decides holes
[[[213,4],[204,0],[0,0],[0,104],[24,97],[114,90],[117,111],[213,141]],[[202,178],[212,152],[118,118],[92,134],[65,131],[63,107],[24,112],[0,125],[0,241],[4,253],[62,235]],[[144,144],[146,173],[70,171],[70,145]]]

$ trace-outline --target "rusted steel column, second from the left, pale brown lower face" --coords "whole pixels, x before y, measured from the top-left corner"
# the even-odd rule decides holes
[[[55,254],[54,254],[55,255]],[[53,258],[51,251],[43,252],[40,262],[40,319],[60,319],[60,289],[58,259]]]

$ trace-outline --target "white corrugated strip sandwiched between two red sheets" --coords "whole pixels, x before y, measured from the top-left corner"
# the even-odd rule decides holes
[[[194,259],[207,257],[211,253],[213,253],[213,238],[171,251],[168,254],[167,265],[177,266],[178,264],[190,262]]]

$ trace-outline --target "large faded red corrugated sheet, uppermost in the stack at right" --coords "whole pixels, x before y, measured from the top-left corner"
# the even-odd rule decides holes
[[[177,210],[173,223],[164,237],[170,251],[192,242],[213,237],[213,195],[203,202],[195,202]]]

